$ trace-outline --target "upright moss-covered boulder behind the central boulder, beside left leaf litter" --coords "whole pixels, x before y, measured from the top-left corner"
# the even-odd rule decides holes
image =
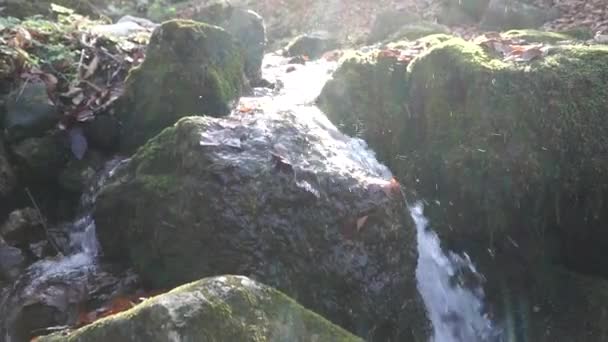
[[[242,85],[243,56],[230,34],[194,21],[165,22],[126,80],[117,108],[123,148],[145,143],[186,115],[229,114]]]

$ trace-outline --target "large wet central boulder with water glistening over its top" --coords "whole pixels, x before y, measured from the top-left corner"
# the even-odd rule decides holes
[[[251,276],[361,336],[411,338],[425,319],[402,195],[362,142],[316,115],[163,131],[99,195],[106,257],[155,287]]]

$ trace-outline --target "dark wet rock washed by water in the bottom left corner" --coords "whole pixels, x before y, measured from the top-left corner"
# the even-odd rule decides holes
[[[108,273],[84,253],[34,263],[0,298],[0,336],[29,341],[49,327],[75,325],[87,301],[134,290],[122,279],[130,281],[128,274]]]

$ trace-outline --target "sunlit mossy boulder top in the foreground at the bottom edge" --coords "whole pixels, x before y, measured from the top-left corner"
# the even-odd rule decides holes
[[[273,288],[245,277],[219,276],[183,285],[72,333],[38,341],[363,340]]]

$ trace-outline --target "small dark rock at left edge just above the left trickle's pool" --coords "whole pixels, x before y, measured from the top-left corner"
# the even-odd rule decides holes
[[[11,212],[6,222],[0,226],[0,235],[11,245],[22,247],[45,239],[42,220],[34,208]]]

